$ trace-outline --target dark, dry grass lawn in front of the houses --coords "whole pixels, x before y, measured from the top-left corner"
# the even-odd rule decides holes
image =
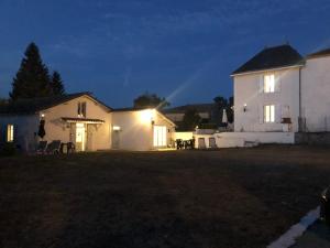
[[[0,247],[265,247],[318,205],[330,149],[0,159]]]

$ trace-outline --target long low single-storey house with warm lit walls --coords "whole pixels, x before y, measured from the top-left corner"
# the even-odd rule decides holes
[[[73,142],[77,151],[167,148],[175,125],[155,109],[116,110],[89,93],[18,100],[0,107],[0,142],[33,151],[44,121],[48,142]],[[161,141],[160,141],[161,140]]]

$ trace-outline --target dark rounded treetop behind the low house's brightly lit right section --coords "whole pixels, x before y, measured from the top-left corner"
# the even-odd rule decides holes
[[[169,106],[164,97],[158,97],[156,94],[148,94],[147,91],[134,99],[135,108],[165,108]]]

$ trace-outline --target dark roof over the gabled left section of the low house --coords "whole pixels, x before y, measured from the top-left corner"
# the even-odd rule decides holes
[[[0,106],[0,114],[34,114],[81,96],[89,96],[90,98],[106,107],[108,110],[111,110],[110,107],[108,107],[107,105],[98,100],[96,97],[94,97],[91,93],[75,93],[63,96],[19,99],[7,105]]]

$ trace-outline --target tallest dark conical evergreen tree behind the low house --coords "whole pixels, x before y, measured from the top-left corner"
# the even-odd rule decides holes
[[[31,43],[12,83],[10,98],[34,98],[52,95],[48,68],[43,63],[38,47]]]

